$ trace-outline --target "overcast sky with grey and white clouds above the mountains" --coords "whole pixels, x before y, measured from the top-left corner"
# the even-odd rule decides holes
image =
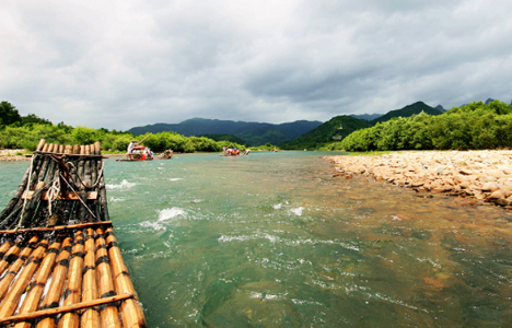
[[[127,130],[512,99],[510,0],[7,0],[0,101]]]

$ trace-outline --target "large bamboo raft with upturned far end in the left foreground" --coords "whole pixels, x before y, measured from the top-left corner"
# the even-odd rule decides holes
[[[0,327],[147,327],[108,218],[100,142],[40,140],[0,230]]]

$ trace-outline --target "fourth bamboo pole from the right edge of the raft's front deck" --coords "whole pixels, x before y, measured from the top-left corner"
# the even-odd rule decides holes
[[[73,305],[80,303],[82,295],[82,270],[83,270],[83,233],[77,231],[74,237],[73,255],[69,263],[68,288],[66,289],[62,305]],[[78,328],[80,325],[80,317],[77,313],[68,313],[59,320],[59,328]]]

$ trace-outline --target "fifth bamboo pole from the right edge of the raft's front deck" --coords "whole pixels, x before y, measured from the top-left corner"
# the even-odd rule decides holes
[[[69,256],[71,247],[71,237],[66,237],[60,248],[59,256],[57,257],[57,265],[51,274],[51,284],[48,294],[43,301],[43,309],[54,308],[59,306],[60,298],[62,297],[62,290],[68,276]],[[37,328],[55,327],[55,317],[47,317],[40,320]]]

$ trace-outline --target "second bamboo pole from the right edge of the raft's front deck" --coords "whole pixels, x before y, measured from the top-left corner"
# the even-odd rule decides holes
[[[100,297],[116,295],[105,237],[101,227],[96,229],[96,277]],[[102,316],[102,327],[121,327],[119,312],[116,306],[105,307],[100,315]]]

